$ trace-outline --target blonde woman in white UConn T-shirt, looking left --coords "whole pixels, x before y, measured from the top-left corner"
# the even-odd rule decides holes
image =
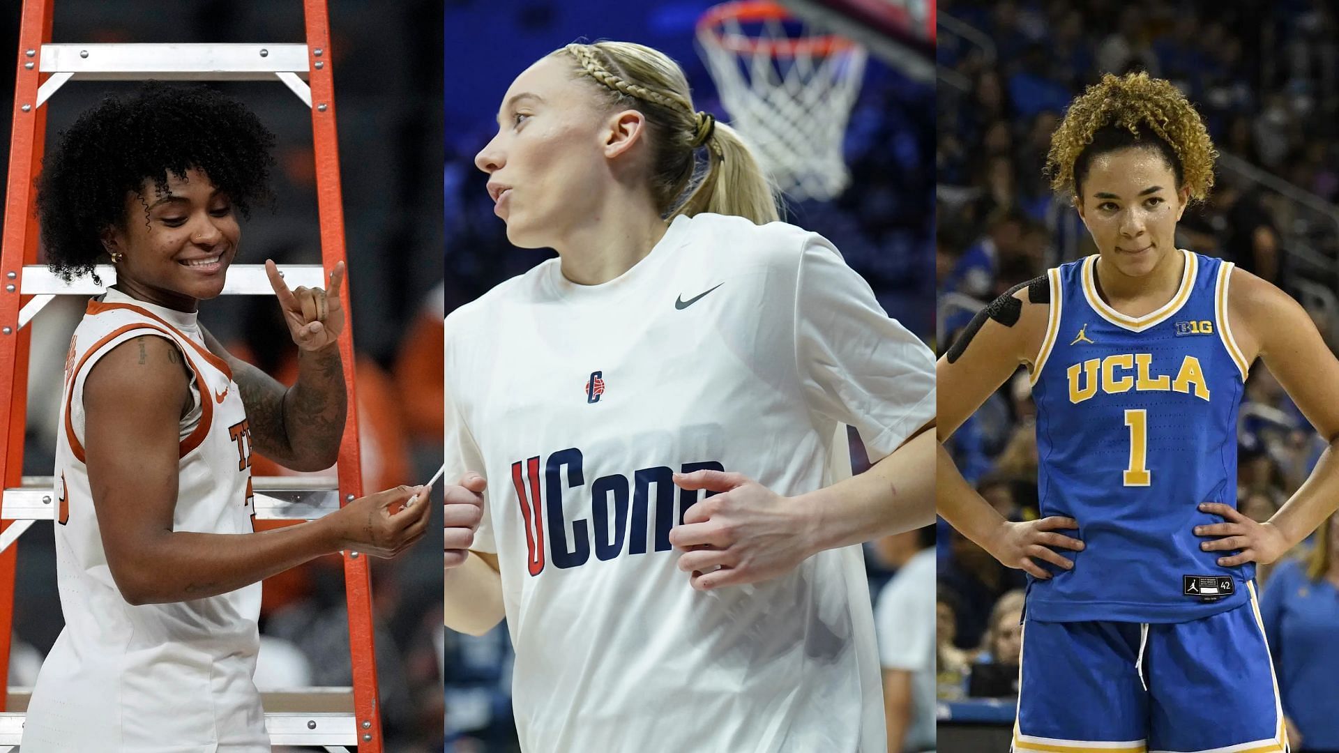
[[[884,750],[858,544],[933,520],[929,350],[655,50],[534,63],[475,163],[558,252],[446,320],[446,623],[506,618],[522,749]]]

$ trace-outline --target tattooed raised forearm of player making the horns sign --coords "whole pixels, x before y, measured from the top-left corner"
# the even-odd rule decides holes
[[[297,351],[297,382],[284,395],[284,427],[293,456],[307,468],[329,468],[339,458],[348,413],[339,344]]]

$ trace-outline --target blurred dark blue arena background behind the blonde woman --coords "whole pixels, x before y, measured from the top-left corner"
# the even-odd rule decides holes
[[[694,42],[694,27],[710,7],[710,0],[623,4],[447,0],[443,176],[447,311],[552,253],[517,249],[506,241],[505,226],[493,214],[493,201],[485,190],[487,176],[474,166],[474,154],[497,131],[494,117],[511,79],[570,42],[639,42],[667,52],[683,66],[699,110],[732,122],[735,118],[722,106]],[[793,197],[787,221],[830,238],[870,283],[889,315],[929,342],[933,338],[929,245],[935,212],[935,166],[929,154],[935,87],[928,38],[933,4],[803,0],[791,8],[861,40],[869,47],[869,62],[842,142],[850,185],[828,201]],[[864,454],[858,454],[857,465],[862,466]],[[915,533],[869,547],[872,592],[892,575],[878,551],[886,553],[888,561],[902,561],[917,548]],[[928,626],[928,590],[921,612],[923,624]],[[482,638],[447,631],[449,750],[517,749],[510,657],[505,626]]]

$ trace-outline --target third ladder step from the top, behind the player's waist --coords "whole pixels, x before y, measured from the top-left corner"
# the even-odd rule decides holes
[[[339,490],[331,477],[258,476],[252,481],[257,520],[312,520],[339,509]],[[0,519],[55,520],[55,481],[24,476],[23,486],[5,489]]]

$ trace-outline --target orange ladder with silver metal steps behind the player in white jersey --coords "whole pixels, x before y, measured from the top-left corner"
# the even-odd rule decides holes
[[[4,468],[0,504],[0,670],[9,666],[13,622],[15,541],[33,521],[54,520],[52,480],[23,477],[23,441],[27,423],[28,322],[56,295],[96,295],[102,288],[88,277],[64,283],[37,264],[35,181],[46,142],[43,103],[64,83],[80,80],[280,80],[312,111],[316,154],[316,196],[320,220],[321,264],[284,265],[289,287],[323,287],[323,269],[344,260],[344,213],[340,198],[339,154],[335,133],[335,84],[331,71],[327,0],[303,0],[305,44],[51,44],[54,0],[23,0],[19,29],[13,131],[9,145],[8,193],[0,248],[0,468]],[[115,281],[115,269],[99,265],[98,275]],[[224,293],[273,295],[260,265],[233,265]],[[349,310],[348,285],[343,303]],[[309,520],[337,509],[363,493],[359,465],[358,414],[353,390],[352,326],[340,335],[348,421],[339,452],[337,484],[312,489],[311,480],[257,478],[257,519]],[[297,484],[295,484],[295,481]],[[380,753],[382,722],[372,646],[372,600],[367,557],[343,552],[348,602],[349,653],[353,669],[353,713],[268,713],[265,726],[273,745],[313,745],[327,750],[356,745],[360,753]],[[7,683],[8,685],[8,683]],[[332,690],[304,689],[317,702]],[[19,745],[23,714],[4,713],[0,694],[0,753]]]

